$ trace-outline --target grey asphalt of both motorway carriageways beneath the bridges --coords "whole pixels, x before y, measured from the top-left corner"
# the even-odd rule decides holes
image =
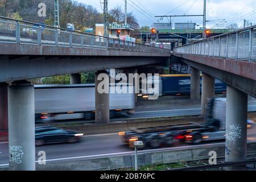
[[[249,102],[248,110],[256,111],[256,103]],[[155,106],[146,109],[137,109],[130,118],[200,115],[200,112],[201,106]],[[127,119],[127,117],[123,118]],[[256,125],[248,130],[247,137],[249,142],[256,142]],[[220,141],[210,142],[210,144],[212,143],[220,143]],[[173,150],[177,147],[189,146],[187,144],[180,144],[178,146],[164,149],[160,148],[156,150]],[[133,152],[132,149],[128,148],[121,142],[118,134],[87,135],[82,137],[79,143],[48,144],[46,146],[36,147],[36,155],[42,150],[46,151],[46,158],[50,161],[79,158],[100,158],[106,155],[120,155]],[[0,142],[0,166],[6,166],[9,163],[8,155],[8,143]],[[38,156],[36,156],[36,159],[38,159]]]

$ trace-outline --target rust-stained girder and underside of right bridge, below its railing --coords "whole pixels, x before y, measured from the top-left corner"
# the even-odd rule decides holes
[[[174,53],[180,61],[256,97],[256,63]]]

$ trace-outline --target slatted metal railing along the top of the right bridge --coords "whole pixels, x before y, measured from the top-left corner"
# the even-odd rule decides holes
[[[256,61],[256,26],[176,47],[174,53]]]

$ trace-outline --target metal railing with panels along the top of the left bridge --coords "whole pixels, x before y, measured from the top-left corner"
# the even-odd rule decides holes
[[[0,43],[170,54],[170,49],[0,16]]]

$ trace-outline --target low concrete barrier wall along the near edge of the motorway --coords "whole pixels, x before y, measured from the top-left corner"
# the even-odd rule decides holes
[[[147,152],[138,155],[138,166],[145,164],[167,164],[209,159],[209,152],[216,151],[217,158],[225,157],[224,144],[213,146],[176,149],[173,151]],[[247,156],[256,156],[256,143],[247,144]],[[47,162],[46,165],[36,164],[36,170],[113,170],[134,167],[134,155],[110,156],[101,159],[73,159]],[[8,168],[0,167],[1,170]]]

